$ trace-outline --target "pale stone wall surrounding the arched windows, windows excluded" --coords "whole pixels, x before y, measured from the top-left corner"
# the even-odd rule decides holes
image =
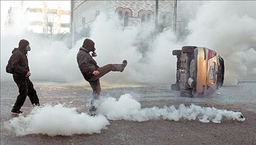
[[[74,29],[79,32],[83,26],[90,26],[95,20],[97,11],[104,12],[110,17],[116,17],[118,12],[122,12],[121,25],[124,25],[125,12],[129,12],[128,25],[137,26],[141,24],[141,17],[151,14],[151,24],[154,24],[154,17],[156,11],[156,1],[74,1],[73,22]],[[173,16],[173,1],[158,1],[158,23],[163,22],[163,15],[169,14]],[[82,22],[85,17],[85,22]],[[166,18],[167,19],[167,18]],[[171,18],[169,18],[171,19]],[[173,21],[171,19],[171,21]],[[172,27],[169,24],[169,27]]]

